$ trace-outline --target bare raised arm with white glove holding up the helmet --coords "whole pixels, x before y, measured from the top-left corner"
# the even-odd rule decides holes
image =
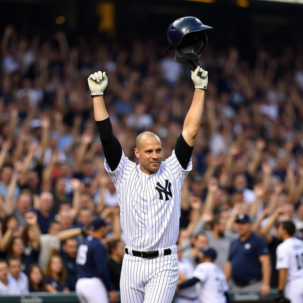
[[[195,71],[191,71],[191,79],[195,83],[195,94],[191,107],[185,117],[182,136],[189,146],[194,146],[195,138],[201,124],[203,114],[204,95],[207,87],[208,72],[198,66]]]

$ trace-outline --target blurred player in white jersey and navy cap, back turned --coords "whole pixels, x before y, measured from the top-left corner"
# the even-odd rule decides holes
[[[179,284],[177,290],[196,285],[200,303],[227,303],[228,285],[224,272],[215,265],[217,252],[213,248],[200,248],[200,264],[195,268],[193,278]]]

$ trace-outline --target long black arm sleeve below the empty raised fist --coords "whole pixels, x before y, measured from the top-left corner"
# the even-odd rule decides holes
[[[114,171],[122,157],[122,147],[118,139],[113,134],[112,123],[109,117],[102,121],[96,121],[104,157],[108,166]]]

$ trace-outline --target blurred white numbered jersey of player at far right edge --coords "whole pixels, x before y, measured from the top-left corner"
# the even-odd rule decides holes
[[[287,268],[286,282],[303,280],[303,241],[288,238],[278,245],[276,269]],[[302,285],[303,288],[303,285]]]

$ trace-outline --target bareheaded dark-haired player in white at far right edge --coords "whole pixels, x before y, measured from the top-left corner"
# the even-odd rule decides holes
[[[291,221],[279,225],[278,235],[283,242],[276,250],[276,269],[279,271],[277,303],[303,303],[303,241],[295,238],[294,233],[295,224]]]

